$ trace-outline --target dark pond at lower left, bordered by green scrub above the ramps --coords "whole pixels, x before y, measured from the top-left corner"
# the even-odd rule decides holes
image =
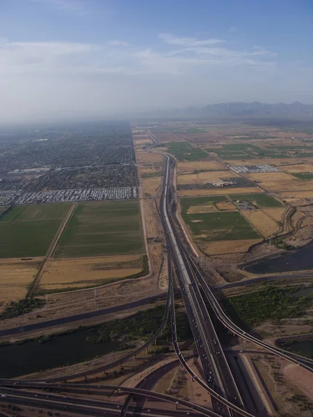
[[[54,336],[46,343],[29,341],[22,345],[0,347],[0,377],[13,378],[35,373],[38,370],[72,365],[97,355],[118,350],[120,341],[91,343],[86,341],[93,332],[80,329],[77,332]]]

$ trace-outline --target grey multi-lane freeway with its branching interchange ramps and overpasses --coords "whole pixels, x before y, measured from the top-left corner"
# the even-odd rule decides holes
[[[150,136],[150,135],[149,135]],[[152,136],[152,135],[151,135]],[[152,140],[154,140],[152,138]],[[154,142],[156,142],[154,140]],[[175,188],[173,186],[174,179],[174,167],[175,158],[170,154],[159,152],[157,149],[150,149],[151,152],[157,152],[163,154],[166,165],[163,174],[163,188],[161,194],[161,204],[159,206],[159,215],[163,224],[163,229],[166,235],[166,245],[168,252],[168,293],[166,297],[166,309],[163,316],[163,320],[156,334],[150,338],[147,343],[132,351],[131,353],[122,357],[118,361],[106,364],[101,368],[89,370],[83,373],[70,375],[66,377],[66,380],[77,377],[86,377],[86,375],[95,373],[99,370],[105,370],[111,368],[120,363],[129,360],[131,357],[136,357],[136,354],[144,350],[148,345],[153,343],[157,337],[161,334],[162,329],[165,327],[168,320],[172,329],[172,343],[177,354],[177,361],[186,369],[187,373],[191,375],[193,380],[200,384],[209,395],[211,395],[212,408],[200,406],[192,402],[177,399],[172,395],[165,395],[155,393],[146,389],[143,389],[144,383],[149,379],[146,377],[135,388],[119,387],[114,385],[101,385],[95,386],[93,384],[78,384],[78,383],[57,383],[62,379],[60,377],[49,379],[29,381],[19,380],[19,382],[13,379],[0,379],[1,386],[1,402],[8,402],[12,404],[25,404],[32,407],[53,408],[56,410],[71,411],[77,414],[96,415],[102,416],[104,414],[108,416],[135,416],[135,415],[155,415],[155,416],[246,416],[252,417],[255,414],[255,409],[250,409],[247,404],[243,393],[239,390],[239,386],[236,384],[236,380],[232,374],[227,358],[225,357],[223,347],[220,344],[214,323],[212,322],[212,314],[217,318],[227,330],[240,336],[246,341],[254,343],[255,345],[262,347],[262,349],[284,358],[291,363],[296,363],[298,366],[302,366],[310,372],[313,372],[313,361],[300,357],[296,354],[285,352],[278,347],[268,345],[260,341],[259,339],[244,332],[240,327],[236,326],[230,318],[227,317],[223,308],[220,306],[220,302],[214,292],[211,290],[207,282],[193,259],[193,256],[188,253],[188,245],[184,245],[184,242],[177,231],[176,222],[176,203],[175,203]],[[190,366],[188,366],[187,358],[184,358],[182,352],[179,349],[179,343],[177,341],[176,321],[175,321],[175,302],[174,302],[174,282],[173,272],[175,270],[175,276],[177,284],[179,286],[184,305],[186,307],[186,313],[188,321],[191,325],[193,332],[193,338],[198,350],[198,357],[202,363],[202,369],[204,379],[201,379],[196,375]],[[150,375],[151,376],[151,375]],[[64,378],[63,378],[64,379]],[[65,381],[66,382],[66,381]],[[63,395],[46,395],[39,394],[36,391],[29,391],[31,389],[56,389],[59,392],[73,390],[81,390],[82,393],[90,393],[95,390],[97,392],[115,391],[119,394],[127,394],[127,398],[120,407],[119,404],[115,404],[109,401],[88,400],[87,398],[68,397]],[[86,392],[87,390],[87,392]],[[159,400],[173,402],[175,404],[181,404],[186,407],[185,410],[189,411],[170,411],[170,414],[166,410],[162,409],[135,409],[131,405],[133,395],[141,395],[144,398],[157,398]],[[93,402],[93,404],[91,404]]]

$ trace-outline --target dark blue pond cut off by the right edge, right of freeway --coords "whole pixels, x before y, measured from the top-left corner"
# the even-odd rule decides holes
[[[275,274],[313,269],[313,245],[243,268],[252,274]]]

